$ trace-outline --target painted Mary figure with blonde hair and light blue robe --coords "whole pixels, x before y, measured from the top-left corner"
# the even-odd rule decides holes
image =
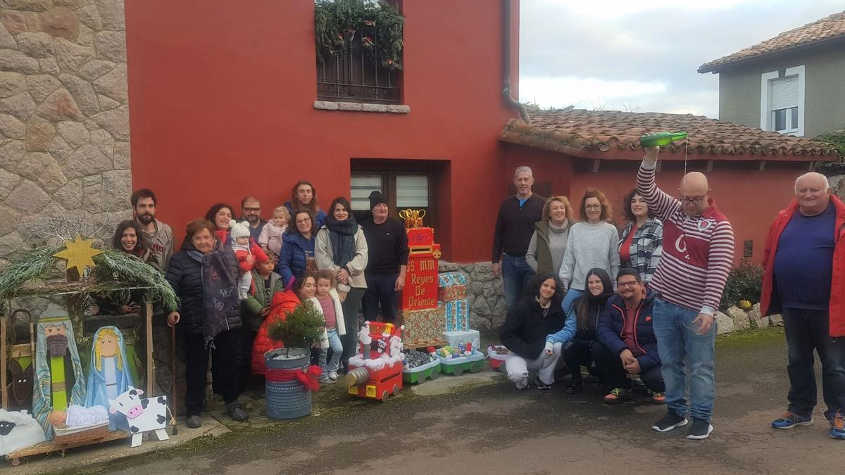
[[[132,385],[134,382],[129,372],[123,334],[114,326],[100,327],[91,344],[91,368],[85,407],[109,407],[110,399],[117,399]],[[109,416],[109,430],[125,429],[124,426],[127,426],[125,416]]]

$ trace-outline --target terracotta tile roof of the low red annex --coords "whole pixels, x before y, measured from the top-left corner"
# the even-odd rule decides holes
[[[511,119],[499,139],[571,156],[601,158],[604,152],[613,158],[639,160],[641,135],[669,131],[689,133],[688,154],[704,155],[695,157],[698,160],[720,156],[728,160],[834,161],[839,157],[834,145],[692,114],[568,110],[533,112],[531,116],[530,124]],[[687,140],[666,148],[683,151]],[[629,157],[626,151],[635,153]]]

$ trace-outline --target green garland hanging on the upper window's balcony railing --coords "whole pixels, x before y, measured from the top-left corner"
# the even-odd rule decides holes
[[[317,59],[342,54],[344,45],[362,35],[364,50],[373,64],[390,70],[402,69],[402,30],[405,17],[393,4],[379,0],[317,0],[314,30]]]

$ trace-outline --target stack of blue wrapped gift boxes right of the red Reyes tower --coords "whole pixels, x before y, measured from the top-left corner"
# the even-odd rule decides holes
[[[438,276],[438,306],[443,307],[446,325],[443,338],[450,347],[471,343],[479,349],[478,330],[470,329],[470,303],[466,298],[466,276],[461,272],[442,272]]]

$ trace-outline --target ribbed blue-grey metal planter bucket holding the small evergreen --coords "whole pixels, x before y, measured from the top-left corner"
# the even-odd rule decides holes
[[[311,390],[299,380],[275,380],[273,369],[303,370],[311,363],[304,348],[279,348],[264,353],[267,417],[276,420],[303,418],[311,413]]]

